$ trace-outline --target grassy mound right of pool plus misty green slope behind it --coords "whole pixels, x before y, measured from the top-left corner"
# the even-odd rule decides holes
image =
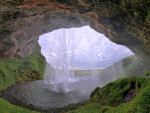
[[[71,113],[149,113],[150,112],[150,71],[137,61],[135,55],[129,56],[122,61],[123,73],[117,78],[130,77],[139,74],[145,78],[130,77],[110,82],[84,106]],[[136,64],[136,65],[135,65]],[[105,69],[101,74],[105,75]],[[136,96],[129,102],[123,99],[128,91],[135,90]]]

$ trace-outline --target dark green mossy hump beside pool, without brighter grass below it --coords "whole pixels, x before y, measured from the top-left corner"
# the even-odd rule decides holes
[[[115,82],[108,83],[103,88],[99,88],[97,93],[95,92],[95,95],[93,95],[93,99],[101,105],[118,106],[125,102],[125,97],[127,95],[133,91],[135,94],[138,93],[140,89],[146,87],[148,82],[150,82],[150,79],[146,78],[131,77],[119,79]]]

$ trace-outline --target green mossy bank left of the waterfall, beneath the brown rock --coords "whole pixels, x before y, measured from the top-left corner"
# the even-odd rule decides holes
[[[45,64],[45,59],[36,54],[22,59],[0,60],[0,91],[16,82],[42,79]]]

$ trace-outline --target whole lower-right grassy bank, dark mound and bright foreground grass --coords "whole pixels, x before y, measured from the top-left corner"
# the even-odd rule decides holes
[[[124,78],[108,83],[70,113],[149,113],[150,78]],[[134,96],[131,96],[132,93]],[[127,99],[127,97],[129,99]]]

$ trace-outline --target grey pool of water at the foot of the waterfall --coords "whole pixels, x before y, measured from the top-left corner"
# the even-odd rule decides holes
[[[5,98],[15,98],[25,104],[32,104],[37,108],[59,108],[71,103],[88,100],[91,92],[97,86],[103,86],[100,78],[92,76],[78,77],[76,81],[68,82],[69,90],[54,91],[53,86],[45,84],[44,80],[15,84],[8,88]]]

